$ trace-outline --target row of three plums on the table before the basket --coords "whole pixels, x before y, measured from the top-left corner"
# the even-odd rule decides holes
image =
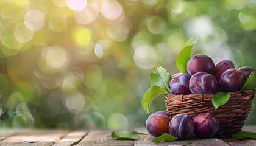
[[[191,134],[197,137],[212,137],[219,129],[218,119],[211,113],[201,113],[194,120],[187,114],[177,114],[171,117],[166,111],[158,111],[146,120],[149,134],[159,137],[169,133],[178,139],[188,139]]]

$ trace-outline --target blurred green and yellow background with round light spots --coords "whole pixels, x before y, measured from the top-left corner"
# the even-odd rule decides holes
[[[144,127],[150,72],[178,72],[194,36],[193,55],[256,68],[254,0],[0,0],[0,15],[2,128]]]

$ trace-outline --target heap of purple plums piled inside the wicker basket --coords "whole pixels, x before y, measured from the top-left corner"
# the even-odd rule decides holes
[[[221,91],[240,91],[251,72],[256,72],[256,69],[251,66],[235,69],[230,60],[221,60],[214,64],[210,57],[199,54],[188,61],[187,72],[188,74],[172,75],[169,83],[171,94],[215,94]]]

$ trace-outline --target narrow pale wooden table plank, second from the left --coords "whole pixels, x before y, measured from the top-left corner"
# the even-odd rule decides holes
[[[78,144],[87,134],[86,131],[73,131],[68,133],[63,139],[52,146],[69,146]]]

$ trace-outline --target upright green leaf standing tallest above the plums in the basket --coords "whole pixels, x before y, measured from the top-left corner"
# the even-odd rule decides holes
[[[183,44],[183,49],[180,51],[176,59],[176,66],[180,72],[188,74],[187,62],[188,60],[190,60],[192,47],[196,43],[197,39],[198,39],[197,37],[191,38],[190,40],[187,40],[185,44]]]

